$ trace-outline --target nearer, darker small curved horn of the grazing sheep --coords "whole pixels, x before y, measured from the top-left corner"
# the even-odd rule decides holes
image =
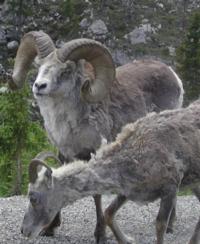
[[[52,173],[52,169],[48,165],[46,165],[44,161],[35,158],[35,159],[31,160],[31,162],[29,164],[28,172],[29,172],[29,182],[30,183],[34,184],[38,177],[38,166],[43,166],[50,172],[50,174]]]

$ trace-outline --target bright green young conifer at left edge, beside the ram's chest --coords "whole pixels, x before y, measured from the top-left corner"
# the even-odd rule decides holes
[[[40,151],[52,150],[39,122],[30,120],[30,94],[0,95],[0,195],[21,194],[27,188],[27,166]]]

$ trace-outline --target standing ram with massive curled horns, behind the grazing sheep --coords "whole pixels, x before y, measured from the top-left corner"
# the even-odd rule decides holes
[[[57,49],[42,31],[22,38],[9,81],[12,89],[23,86],[34,59],[39,71],[33,93],[50,140],[68,162],[89,160],[102,137],[114,140],[122,126],[148,112],[182,105],[182,83],[167,65],[146,60],[115,69],[110,52],[101,43],[77,39]],[[95,196],[95,203],[95,236],[100,242],[105,232],[101,196]],[[50,234],[56,222],[60,222],[59,215],[49,227]]]

